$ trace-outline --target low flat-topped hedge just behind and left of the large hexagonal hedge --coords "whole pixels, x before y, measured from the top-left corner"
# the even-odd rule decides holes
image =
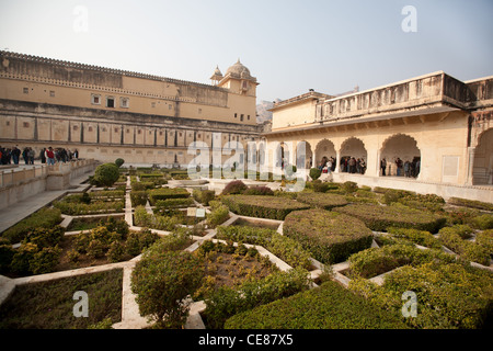
[[[293,211],[309,208],[306,204],[279,196],[228,195],[221,201],[236,214],[279,220]]]

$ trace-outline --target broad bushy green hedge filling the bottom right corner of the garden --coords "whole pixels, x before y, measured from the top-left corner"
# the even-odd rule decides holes
[[[404,265],[386,275],[378,286],[352,280],[349,290],[389,312],[400,314],[404,292],[417,298],[416,317],[402,320],[420,329],[479,329],[491,314],[493,273],[460,263]],[[490,317],[491,318],[491,317]]]

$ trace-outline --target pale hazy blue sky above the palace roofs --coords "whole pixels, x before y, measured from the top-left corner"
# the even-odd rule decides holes
[[[0,49],[203,83],[240,58],[272,101],[492,76],[492,0],[0,0]]]

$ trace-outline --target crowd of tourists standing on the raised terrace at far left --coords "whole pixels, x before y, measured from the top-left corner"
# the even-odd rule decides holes
[[[43,148],[36,152],[32,147],[24,147],[22,150],[19,146],[13,148],[4,148],[0,146],[1,165],[19,165],[24,161],[25,165],[34,165],[34,160],[38,159],[42,163],[55,165],[56,162],[69,162],[79,158],[79,151],[73,152],[65,148]]]

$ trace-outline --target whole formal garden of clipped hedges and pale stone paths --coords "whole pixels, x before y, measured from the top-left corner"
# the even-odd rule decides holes
[[[84,193],[2,233],[1,274],[131,262],[130,290],[149,317],[142,328],[184,328],[197,304],[208,329],[491,327],[491,204],[353,182],[311,181],[289,192],[237,180],[218,193],[188,188],[183,170],[108,168],[113,183],[96,173]],[[122,306],[122,269],[105,274],[104,286],[92,274],[73,276],[88,278],[80,283],[88,290],[112,290],[94,318],[58,318],[55,328],[123,322],[114,308]],[[38,328],[28,308],[14,317],[15,304],[34,294],[27,288],[62,294],[64,280],[16,286],[0,305],[1,327]],[[414,317],[402,313],[409,292]],[[49,304],[68,303],[48,296],[43,308]]]

